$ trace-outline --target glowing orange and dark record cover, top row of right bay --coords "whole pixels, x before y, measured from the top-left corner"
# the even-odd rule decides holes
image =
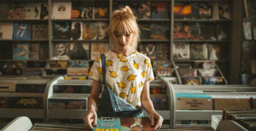
[[[191,5],[176,4],[174,5],[174,19],[190,19],[191,18]]]

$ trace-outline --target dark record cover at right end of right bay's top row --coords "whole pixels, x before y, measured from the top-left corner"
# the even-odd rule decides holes
[[[218,14],[220,19],[230,19],[230,7],[229,3],[219,2],[218,3]]]

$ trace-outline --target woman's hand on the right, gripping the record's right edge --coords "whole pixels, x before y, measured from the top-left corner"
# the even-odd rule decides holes
[[[155,119],[156,119],[156,124],[154,126],[155,130],[156,129],[160,129],[161,126],[162,126],[162,123],[163,123],[163,117],[160,116],[156,111],[155,109],[152,109],[150,111],[150,124],[151,125],[154,125],[154,122],[155,122]]]

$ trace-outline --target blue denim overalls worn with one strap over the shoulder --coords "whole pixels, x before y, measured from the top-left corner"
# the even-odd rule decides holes
[[[104,91],[102,92],[100,105],[97,110],[98,117],[143,117],[142,109],[135,108],[108,88],[108,84],[106,84],[106,60],[104,54],[101,54],[101,64]]]

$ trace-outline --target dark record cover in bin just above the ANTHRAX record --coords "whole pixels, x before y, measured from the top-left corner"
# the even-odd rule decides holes
[[[44,93],[47,84],[16,84],[16,92]]]

